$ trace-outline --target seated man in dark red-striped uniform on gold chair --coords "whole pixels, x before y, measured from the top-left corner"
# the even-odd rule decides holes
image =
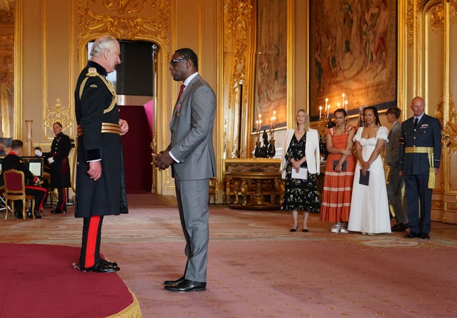
[[[39,215],[39,211],[43,208],[44,196],[46,195],[46,189],[41,188],[39,180],[36,175],[31,173],[28,169],[26,169],[26,165],[24,164],[24,160],[21,159],[20,155],[22,153],[22,146],[24,144],[21,140],[13,140],[11,141],[11,151],[3,160],[2,164],[2,173],[1,173],[1,182],[3,183],[3,173],[6,170],[16,169],[22,171],[24,173],[24,180],[26,183],[26,195],[33,195],[35,197],[35,217],[41,219],[41,215]],[[22,208],[22,201],[17,204],[17,209],[14,211],[16,217],[22,218],[22,214],[19,212]],[[15,202],[15,203],[16,203]],[[16,204],[15,204],[16,205]],[[31,212],[27,213],[27,217],[32,217]]]

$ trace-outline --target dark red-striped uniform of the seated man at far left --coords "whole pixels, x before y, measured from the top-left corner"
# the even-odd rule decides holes
[[[29,169],[26,168],[24,160],[21,159],[16,153],[10,152],[3,160],[1,165],[3,171],[6,170],[19,170],[24,173],[24,181],[26,183],[26,195],[33,195],[35,197],[35,215],[39,215],[39,211],[43,209],[44,196],[46,195],[46,189],[41,188],[36,183],[39,181],[39,178],[36,177]],[[3,171],[0,175],[1,180],[3,180]],[[22,201],[19,200],[18,209],[22,207]]]

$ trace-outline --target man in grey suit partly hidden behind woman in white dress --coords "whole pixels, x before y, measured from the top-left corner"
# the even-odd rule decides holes
[[[403,188],[403,177],[400,175],[399,153],[400,153],[400,133],[401,124],[398,121],[401,110],[398,107],[388,108],[386,111],[387,122],[392,125],[391,132],[388,133],[388,143],[386,145],[386,165],[388,165],[388,188],[387,196],[396,217],[396,225],[393,225],[392,232],[403,232],[408,228],[408,217],[403,210],[403,198],[401,189]]]

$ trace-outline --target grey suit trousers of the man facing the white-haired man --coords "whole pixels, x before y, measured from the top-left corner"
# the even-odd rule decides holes
[[[179,217],[186,238],[186,279],[206,282],[209,242],[209,179],[175,180]]]

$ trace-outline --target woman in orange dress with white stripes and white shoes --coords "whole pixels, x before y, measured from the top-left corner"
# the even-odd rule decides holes
[[[338,108],[333,113],[336,125],[328,128],[326,174],[323,178],[321,220],[333,222],[331,232],[347,233],[351,209],[352,184],[356,158],[352,153],[356,129],[346,125],[347,113]]]

